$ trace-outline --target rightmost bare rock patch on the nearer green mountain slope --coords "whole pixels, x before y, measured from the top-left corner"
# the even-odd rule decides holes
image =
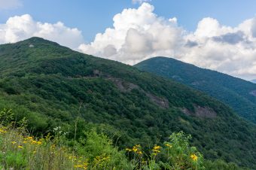
[[[217,114],[211,108],[203,108],[201,106],[195,106],[195,112],[187,110],[187,108],[181,108],[184,114],[195,116],[195,117],[205,117],[205,118],[215,118]]]

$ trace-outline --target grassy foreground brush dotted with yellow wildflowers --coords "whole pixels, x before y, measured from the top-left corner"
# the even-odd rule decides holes
[[[190,135],[172,133],[169,141],[149,146],[140,144],[118,150],[111,139],[96,130],[84,138],[70,140],[69,132],[56,127],[41,138],[26,129],[26,120],[8,123],[11,111],[0,114],[0,169],[240,169],[223,161],[206,161]]]

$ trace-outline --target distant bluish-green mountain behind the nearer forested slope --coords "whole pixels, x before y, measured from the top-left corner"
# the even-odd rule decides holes
[[[166,57],[151,58],[135,67],[207,93],[229,105],[239,116],[256,123],[254,83]]]

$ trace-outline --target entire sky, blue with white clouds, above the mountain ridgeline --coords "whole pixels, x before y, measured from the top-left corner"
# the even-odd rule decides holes
[[[256,78],[251,0],[0,0],[0,44],[32,36],[130,65],[168,56]]]

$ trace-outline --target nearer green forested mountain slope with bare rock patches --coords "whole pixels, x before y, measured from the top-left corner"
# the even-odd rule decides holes
[[[120,147],[184,131],[206,159],[256,168],[256,126],[190,87],[42,38],[0,45],[0,110],[26,117],[34,134],[56,126],[72,138],[105,132]]]

